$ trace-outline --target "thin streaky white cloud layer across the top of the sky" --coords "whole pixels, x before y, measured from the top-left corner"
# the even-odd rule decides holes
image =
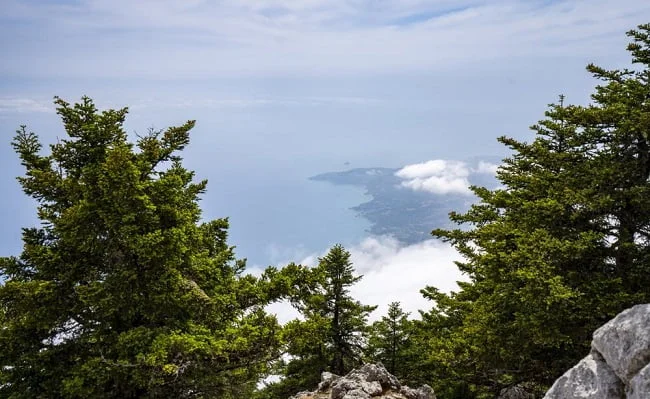
[[[11,55],[0,67],[5,76],[148,79],[602,59],[618,55],[612,51],[623,48],[623,32],[650,18],[650,4],[641,0],[8,0],[3,11],[13,22],[0,24],[0,33],[20,38],[2,44]]]

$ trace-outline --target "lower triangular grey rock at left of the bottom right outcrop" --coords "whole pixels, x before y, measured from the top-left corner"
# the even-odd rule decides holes
[[[555,381],[544,399],[621,399],[623,392],[623,383],[611,367],[591,353]]]

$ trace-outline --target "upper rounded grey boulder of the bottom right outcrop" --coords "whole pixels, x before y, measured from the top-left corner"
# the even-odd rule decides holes
[[[650,363],[650,305],[637,305],[621,312],[594,332],[591,346],[629,384]]]

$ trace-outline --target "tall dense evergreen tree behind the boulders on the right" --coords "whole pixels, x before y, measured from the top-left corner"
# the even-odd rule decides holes
[[[436,230],[465,257],[458,293],[424,291],[439,375],[494,395],[543,392],[589,351],[591,333],[650,291],[650,25],[629,32],[641,70],[588,70],[604,82],[587,107],[554,104],[513,150],[480,202]]]

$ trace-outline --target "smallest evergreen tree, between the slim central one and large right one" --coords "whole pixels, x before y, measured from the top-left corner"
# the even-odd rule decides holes
[[[371,326],[368,353],[373,361],[384,364],[388,372],[406,382],[409,377],[412,322],[399,302],[388,305],[388,312]]]

